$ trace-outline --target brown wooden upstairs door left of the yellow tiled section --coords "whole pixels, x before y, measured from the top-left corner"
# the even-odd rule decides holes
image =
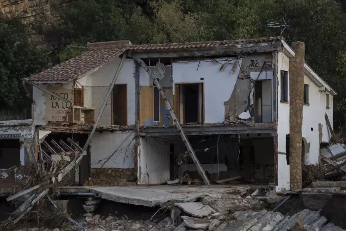
[[[116,84],[112,93],[112,112],[113,124],[126,126],[128,125],[128,99],[127,85]]]

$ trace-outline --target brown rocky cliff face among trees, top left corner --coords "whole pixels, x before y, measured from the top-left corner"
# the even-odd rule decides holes
[[[57,48],[59,37],[52,28],[60,25],[58,10],[71,0],[0,0],[0,17],[17,16],[32,28],[31,42],[48,52]]]

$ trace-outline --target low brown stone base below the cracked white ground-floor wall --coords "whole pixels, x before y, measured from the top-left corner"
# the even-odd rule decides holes
[[[136,185],[137,172],[134,168],[90,169],[90,180],[86,186],[131,186]]]

